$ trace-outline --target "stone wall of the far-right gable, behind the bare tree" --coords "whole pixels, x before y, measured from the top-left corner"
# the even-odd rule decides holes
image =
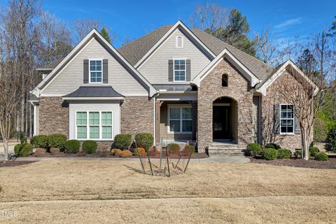
[[[269,118],[274,118],[274,104],[286,104],[283,97],[281,97],[280,90],[284,85],[290,85],[290,83],[297,82],[295,78],[290,75],[287,71],[283,73],[279,78],[274,80],[274,83],[267,88],[266,96],[262,96],[261,107],[262,107],[262,120],[267,120],[266,116]],[[290,93],[288,93],[290,94]],[[273,119],[272,119],[273,120]],[[261,124],[261,127],[269,125],[267,122],[265,124]],[[266,128],[262,130],[262,134],[265,135],[267,133]],[[302,148],[301,144],[301,134],[288,134],[288,135],[275,135],[275,142],[279,144],[283,148],[288,148],[291,151],[295,149]],[[313,139],[313,134],[311,134],[311,141]]]

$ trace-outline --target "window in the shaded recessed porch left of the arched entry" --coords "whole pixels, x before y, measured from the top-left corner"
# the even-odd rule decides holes
[[[191,132],[193,123],[190,106],[169,107],[169,132]]]

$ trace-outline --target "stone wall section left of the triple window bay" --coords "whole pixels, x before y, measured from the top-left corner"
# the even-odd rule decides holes
[[[62,97],[41,97],[39,134],[66,134],[69,138],[69,106]]]

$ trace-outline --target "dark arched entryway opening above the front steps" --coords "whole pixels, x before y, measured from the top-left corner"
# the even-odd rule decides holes
[[[234,141],[237,144],[237,102],[220,97],[213,102],[212,137],[214,141]]]

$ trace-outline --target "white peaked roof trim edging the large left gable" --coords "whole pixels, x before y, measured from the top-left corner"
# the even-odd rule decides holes
[[[54,80],[59,75],[59,73],[62,72],[62,70],[66,67],[66,65],[69,64],[76,57],[76,55],[78,55],[81,52],[81,50],[83,50],[94,38],[97,38],[104,45],[106,49],[111,50],[111,53],[113,53],[113,57],[116,57],[120,61],[120,64],[123,64],[123,66],[125,66],[127,70],[130,71],[130,73],[132,73],[132,76],[134,76],[134,78],[139,83],[141,83],[141,85],[144,85],[146,87],[146,90],[148,91],[150,97],[152,97],[156,93],[156,90],[153,87],[153,85],[151,85],[151,83],[149,83],[148,80],[146,80],[146,78],[144,78],[144,76],[142,76],[141,73],[137,71],[137,69],[134,69],[132,64],[130,64],[130,62],[127,62],[127,60],[122,55],[120,55],[120,53],[116,50],[116,48],[113,48],[113,46],[109,42],[107,42],[105,38],[103,38],[102,35],[99,34],[99,32],[96,29],[92,29],[92,31],[90,31],[90,33],[87,34],[87,36],[85,36],[85,38],[83,38],[83,40],[80,41],[80,43],[78,43],[78,45],[76,45],[76,47],[73,48],[73,50],[71,50],[69,55],[67,55],[64,59],[62,59],[62,62],[57,64],[55,69],[53,69],[48,74],[48,76],[46,76],[41,81],[41,83],[39,83],[34,88],[34,90],[31,91],[31,93],[35,94],[36,97],[39,97],[41,92],[45,90],[45,87],[48,87],[48,85],[52,83],[52,80]]]

